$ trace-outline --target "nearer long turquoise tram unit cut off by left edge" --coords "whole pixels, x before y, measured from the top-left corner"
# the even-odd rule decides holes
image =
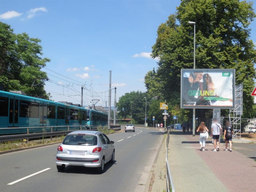
[[[87,125],[85,108],[39,99],[12,92],[0,91],[0,135],[27,133],[22,127]],[[20,127],[20,129],[1,129]],[[78,129],[78,127],[72,127]],[[53,131],[64,131],[58,127]],[[42,132],[41,129],[30,130]],[[51,131],[45,128],[44,131]]]

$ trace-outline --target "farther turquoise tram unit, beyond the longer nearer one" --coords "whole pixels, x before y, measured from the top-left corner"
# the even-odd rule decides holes
[[[107,126],[108,114],[96,111],[93,109],[87,109],[87,125],[91,126]]]

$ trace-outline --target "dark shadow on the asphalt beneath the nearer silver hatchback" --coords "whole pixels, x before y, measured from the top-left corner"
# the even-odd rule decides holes
[[[116,160],[114,161],[114,163],[106,163],[105,164],[105,168],[104,168],[104,172],[108,171],[108,169],[110,167],[112,167],[114,164],[116,164]],[[99,175],[99,174],[103,174],[103,173],[98,173],[96,168],[92,168],[92,167],[84,167],[84,166],[68,166],[64,169],[64,171],[58,171],[61,173],[78,173],[78,174],[90,174],[90,175]]]

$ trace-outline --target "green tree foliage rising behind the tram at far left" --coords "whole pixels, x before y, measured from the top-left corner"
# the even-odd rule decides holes
[[[21,90],[28,95],[49,99],[44,91],[45,72],[40,71],[50,59],[42,58],[42,46],[38,38],[28,34],[14,34],[10,25],[0,22],[0,84],[5,91]],[[38,84],[31,87],[32,84]]]

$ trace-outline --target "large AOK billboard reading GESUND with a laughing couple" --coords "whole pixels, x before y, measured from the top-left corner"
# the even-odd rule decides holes
[[[181,69],[181,108],[235,108],[235,69]]]

